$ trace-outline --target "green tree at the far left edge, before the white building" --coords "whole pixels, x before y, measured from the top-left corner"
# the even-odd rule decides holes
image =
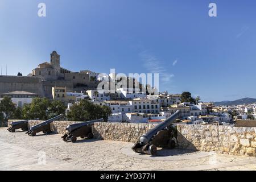
[[[0,112],[3,113],[3,120],[7,121],[10,119],[15,111],[15,104],[11,101],[10,97],[3,97],[3,100],[0,102]]]

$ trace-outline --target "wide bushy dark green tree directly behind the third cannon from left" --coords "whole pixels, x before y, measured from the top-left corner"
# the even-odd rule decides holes
[[[107,122],[111,113],[108,106],[99,106],[92,104],[90,101],[81,100],[71,107],[67,117],[69,121],[90,121],[104,118],[104,121]]]

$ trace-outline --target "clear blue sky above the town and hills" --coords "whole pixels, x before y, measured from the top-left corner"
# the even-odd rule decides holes
[[[253,0],[1,0],[0,66],[27,75],[56,50],[71,71],[159,72],[169,93],[256,98],[255,17]]]

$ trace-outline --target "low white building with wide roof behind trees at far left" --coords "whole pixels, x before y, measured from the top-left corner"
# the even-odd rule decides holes
[[[37,94],[24,91],[14,91],[0,94],[0,101],[3,100],[3,97],[11,97],[11,101],[18,107],[23,107],[24,104],[31,104],[32,99],[38,97]]]

